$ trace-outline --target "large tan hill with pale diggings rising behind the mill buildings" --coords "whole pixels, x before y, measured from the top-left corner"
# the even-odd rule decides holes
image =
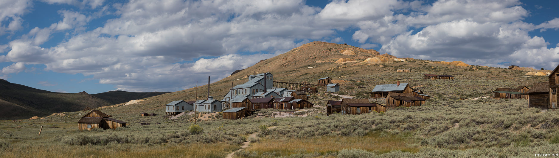
[[[352,50],[354,55],[343,55],[343,50]],[[245,78],[253,73],[271,72],[274,80],[307,81],[318,82],[318,78],[331,77],[340,83],[340,91],[348,95],[363,96],[375,87],[375,85],[396,83],[410,83],[418,90],[425,91],[431,95],[434,101],[438,98],[472,98],[489,96],[495,88],[513,88],[519,85],[532,86],[535,83],[547,81],[546,76],[524,77],[525,71],[508,70],[504,68],[486,66],[454,66],[433,63],[433,61],[414,60],[406,58],[405,62],[382,62],[364,63],[348,62],[334,63],[339,58],[352,58],[364,61],[371,57],[390,57],[390,55],[379,55],[374,50],[339,45],[336,43],[311,42],[276,57],[263,60],[241,70],[234,75],[220,81],[211,83],[210,95],[218,100],[229,91],[231,83],[239,85],[248,81]],[[326,61],[325,61],[326,60]],[[312,67],[312,68],[309,68]],[[410,73],[396,73],[398,68],[411,68]],[[439,74],[453,75],[455,80],[428,80],[423,75]],[[192,81],[195,82],[195,81]],[[198,88],[198,99],[206,99],[207,85]],[[358,88],[366,87],[366,88]],[[319,87],[324,92],[324,87]],[[146,98],[145,101],[133,105],[123,106],[124,103],[114,105],[101,110],[109,115],[115,116],[123,121],[141,122],[145,117],[139,113],[158,113],[164,115],[164,105],[174,100],[195,100],[195,88],[183,91],[165,93],[159,96]],[[311,97],[310,101],[318,106],[324,106],[327,98]],[[54,119],[56,121],[77,121],[79,115],[68,115],[71,118]],[[53,121],[51,120],[51,121]],[[45,120],[46,121],[46,120]]]

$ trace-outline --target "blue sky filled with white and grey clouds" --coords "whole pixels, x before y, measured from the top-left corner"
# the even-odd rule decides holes
[[[312,41],[470,65],[559,64],[559,1],[0,1],[0,78],[180,91]]]

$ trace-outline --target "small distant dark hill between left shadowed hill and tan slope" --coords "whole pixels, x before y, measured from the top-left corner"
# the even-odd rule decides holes
[[[111,104],[128,102],[130,100],[138,100],[147,97],[163,95],[170,92],[126,92],[126,91],[108,91],[103,93],[93,94],[93,96],[101,98]]]

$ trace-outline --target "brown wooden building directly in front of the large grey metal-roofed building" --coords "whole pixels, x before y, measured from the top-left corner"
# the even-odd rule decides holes
[[[413,93],[389,93],[386,96],[386,107],[399,106],[421,106],[425,103],[425,99],[414,96]]]

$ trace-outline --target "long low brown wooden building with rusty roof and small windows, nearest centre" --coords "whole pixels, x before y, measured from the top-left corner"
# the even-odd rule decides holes
[[[362,113],[386,112],[386,106],[378,103],[370,103],[368,99],[342,98],[340,103],[342,114],[359,115]]]

